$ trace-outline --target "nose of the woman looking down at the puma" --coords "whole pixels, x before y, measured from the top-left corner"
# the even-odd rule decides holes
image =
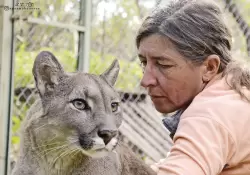
[[[157,84],[156,76],[151,67],[146,66],[144,69],[141,86],[144,88],[155,86]]]

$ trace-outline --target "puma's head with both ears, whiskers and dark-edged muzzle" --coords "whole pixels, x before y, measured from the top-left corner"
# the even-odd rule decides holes
[[[118,73],[117,60],[101,75],[67,73],[52,53],[41,52],[33,75],[43,114],[31,117],[33,146],[89,155],[104,151],[122,122],[120,97],[113,88]]]

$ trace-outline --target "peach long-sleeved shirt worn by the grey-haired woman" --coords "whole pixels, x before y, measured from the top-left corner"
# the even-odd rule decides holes
[[[183,112],[173,141],[157,175],[250,175],[250,103],[217,77]]]

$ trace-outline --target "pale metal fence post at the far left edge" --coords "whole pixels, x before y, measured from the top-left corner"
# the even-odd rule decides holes
[[[0,175],[9,171],[13,80],[12,0],[0,0]]]

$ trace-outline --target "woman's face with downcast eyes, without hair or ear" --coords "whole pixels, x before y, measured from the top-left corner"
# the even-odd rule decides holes
[[[163,36],[143,38],[138,52],[144,70],[141,86],[147,89],[159,112],[186,107],[204,88],[202,65],[187,61]]]

